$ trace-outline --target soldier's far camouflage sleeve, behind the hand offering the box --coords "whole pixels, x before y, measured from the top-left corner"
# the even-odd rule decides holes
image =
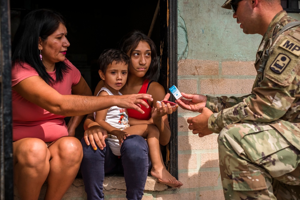
[[[207,96],[206,107],[210,109],[212,112],[220,112],[223,109],[230,108],[237,103],[240,103],[244,98],[243,97],[227,97],[227,96],[220,96],[220,97],[212,97],[209,95]]]

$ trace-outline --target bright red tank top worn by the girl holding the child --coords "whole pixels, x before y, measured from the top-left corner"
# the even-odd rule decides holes
[[[149,82],[149,79],[146,79],[143,82],[142,88],[140,89],[138,94],[146,94],[151,82],[152,82],[152,80],[150,80],[150,82]],[[146,99],[143,99],[143,100],[149,105],[149,103]],[[152,109],[151,106],[149,105],[149,108],[142,106],[141,109],[145,112],[144,114],[136,111],[135,109],[127,109],[128,117],[140,119],[140,120],[149,120],[151,117],[151,109]]]

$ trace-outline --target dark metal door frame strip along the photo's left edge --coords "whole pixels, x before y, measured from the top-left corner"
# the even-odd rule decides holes
[[[13,199],[9,1],[0,0],[0,199]]]

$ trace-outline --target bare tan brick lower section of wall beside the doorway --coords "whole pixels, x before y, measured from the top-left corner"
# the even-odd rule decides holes
[[[254,61],[179,60],[178,89],[188,94],[243,96],[250,93],[256,76],[253,64]],[[179,180],[184,185],[176,197],[161,195],[161,198],[224,199],[218,134],[199,138],[188,129],[187,118],[198,114],[178,109],[178,168]]]

